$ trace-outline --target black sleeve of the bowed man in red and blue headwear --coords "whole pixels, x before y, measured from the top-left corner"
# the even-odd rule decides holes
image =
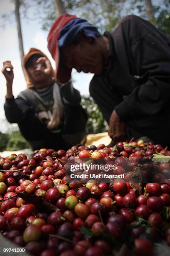
[[[115,107],[121,120],[156,115],[170,100],[170,45],[156,28],[136,16],[122,24],[127,58],[145,82]],[[126,35],[126,36],[125,36]],[[133,61],[133,64],[132,64]]]

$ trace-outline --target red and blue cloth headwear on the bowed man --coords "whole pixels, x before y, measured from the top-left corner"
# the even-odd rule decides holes
[[[48,50],[56,64],[56,79],[65,83],[70,79],[72,69],[59,66],[60,48],[74,43],[83,31],[84,36],[97,38],[100,36],[97,28],[87,20],[77,18],[75,15],[63,14],[53,23],[47,37]]]

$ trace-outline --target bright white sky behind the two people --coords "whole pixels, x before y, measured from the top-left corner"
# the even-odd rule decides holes
[[[13,11],[14,4],[10,0],[0,0],[0,16]],[[31,13],[32,12],[32,13]],[[33,15],[33,9],[30,10],[29,16]],[[15,17],[12,18],[12,23],[8,22],[3,28],[3,20],[0,20],[0,69],[5,60],[10,60],[14,67],[14,81],[13,81],[13,94],[16,97],[19,92],[26,89],[26,83],[21,68],[20,54],[18,49],[18,36],[15,24]],[[35,47],[43,51],[50,59],[52,66],[55,63],[47,50],[47,32],[41,30],[40,21],[21,20],[24,51],[27,53],[31,47]],[[88,87],[93,74],[77,73],[75,70],[72,72],[74,80],[74,87],[80,90],[81,95],[88,95]],[[3,104],[6,95],[6,82],[5,77],[0,72],[0,120],[5,119]],[[0,131],[2,124],[0,125]]]

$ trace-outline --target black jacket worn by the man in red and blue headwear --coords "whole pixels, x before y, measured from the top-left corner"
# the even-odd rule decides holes
[[[170,39],[135,15],[123,18],[109,39],[109,66],[95,75],[91,86],[105,77],[113,109],[121,120],[155,127],[169,117]]]

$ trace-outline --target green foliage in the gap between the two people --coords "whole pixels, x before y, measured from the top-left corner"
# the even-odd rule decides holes
[[[108,130],[107,122],[103,119],[97,104],[92,97],[82,96],[82,107],[85,109],[88,120],[86,125],[87,134],[101,133]]]

